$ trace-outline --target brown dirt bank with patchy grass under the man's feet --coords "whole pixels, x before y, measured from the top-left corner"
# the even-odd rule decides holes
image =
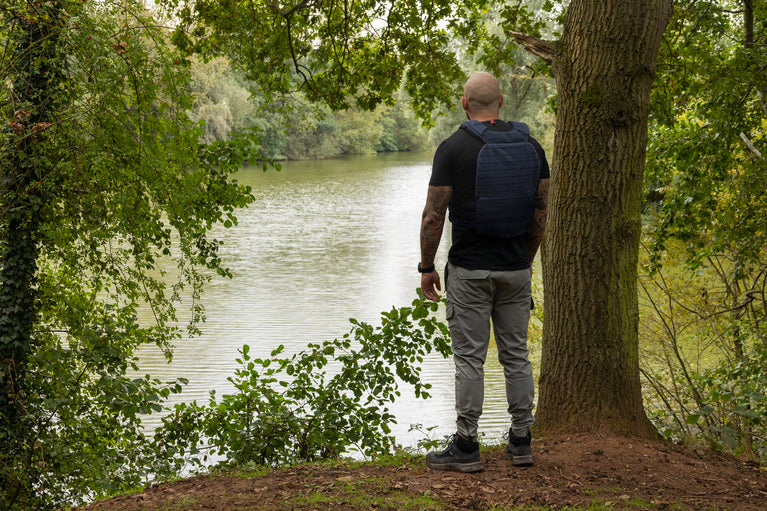
[[[200,476],[154,485],[88,510],[510,510],[587,508],[767,510],[767,471],[714,452],[625,438],[533,441],[535,465],[484,450],[475,474],[397,464],[299,465],[266,476]],[[592,508],[594,509],[594,508]]]

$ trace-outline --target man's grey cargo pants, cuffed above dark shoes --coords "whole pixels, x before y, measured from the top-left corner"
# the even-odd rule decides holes
[[[533,370],[527,349],[530,270],[469,270],[448,263],[446,273],[446,316],[455,361],[458,434],[477,440],[491,319],[506,379],[512,427],[520,431],[529,428],[535,422]]]

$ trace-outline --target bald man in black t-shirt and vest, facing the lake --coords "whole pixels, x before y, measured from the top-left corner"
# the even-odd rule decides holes
[[[477,423],[491,320],[511,414],[506,454],[515,466],[533,463],[534,387],[527,327],[532,262],[546,226],[549,167],[526,125],[499,119],[503,95],[492,75],[472,75],[461,104],[469,121],[434,155],[418,271],[424,295],[439,300],[434,256],[449,206],[453,244],[445,268],[446,316],[455,361],[458,431],[444,451],[427,455],[426,464],[437,470],[476,472],[482,470]]]

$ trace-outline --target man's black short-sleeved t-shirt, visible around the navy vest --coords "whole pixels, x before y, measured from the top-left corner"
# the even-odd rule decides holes
[[[486,121],[492,131],[510,131],[512,125],[504,121]],[[530,143],[541,162],[538,179],[549,178],[546,153],[533,137]],[[464,129],[458,129],[445,139],[434,153],[430,186],[451,186],[452,204],[475,200],[477,157],[484,142]],[[472,270],[523,270],[530,267],[527,235],[514,238],[479,236],[471,227],[453,225],[453,245],[448,259],[457,266]]]

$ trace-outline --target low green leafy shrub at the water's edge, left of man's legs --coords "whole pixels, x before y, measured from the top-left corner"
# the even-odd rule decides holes
[[[229,378],[235,389],[206,406],[179,404],[157,431],[167,457],[193,463],[277,465],[338,457],[351,450],[366,456],[388,453],[394,444],[389,404],[399,383],[429,396],[420,380],[429,353],[450,354],[447,326],[433,315],[436,303],[382,313],[381,325],[350,320],[340,339],[308,344],[288,356],[284,347],[253,358],[247,345]]]

